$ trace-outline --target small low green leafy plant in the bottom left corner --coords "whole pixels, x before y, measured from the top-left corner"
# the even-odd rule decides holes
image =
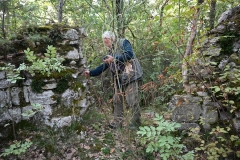
[[[21,155],[22,153],[25,153],[27,149],[32,145],[32,142],[27,140],[24,143],[14,141],[12,145],[8,149],[5,149],[5,151],[0,154],[0,157],[6,157],[8,155]]]

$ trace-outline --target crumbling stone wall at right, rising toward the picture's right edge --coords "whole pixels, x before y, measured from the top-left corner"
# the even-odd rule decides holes
[[[240,131],[239,17],[240,6],[222,14],[218,20],[219,24],[203,41],[198,57],[189,70],[189,77],[191,77],[189,84],[195,86],[193,95],[172,97],[169,104],[172,109],[172,119],[181,123],[182,129],[200,122],[204,129],[209,130],[212,124],[219,120],[232,119],[236,130]],[[219,87],[217,92],[215,90],[216,98],[212,98],[211,95],[214,86]],[[234,104],[227,103],[226,105],[226,100],[234,101]],[[234,108],[235,111],[232,113],[231,110]]]

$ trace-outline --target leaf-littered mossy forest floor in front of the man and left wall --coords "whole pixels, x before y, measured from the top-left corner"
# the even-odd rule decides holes
[[[153,111],[142,111],[142,124],[151,124],[153,117]],[[22,141],[32,141],[33,144],[24,154],[8,156],[6,159],[151,160],[159,158],[157,154],[145,152],[146,148],[140,144],[137,130],[130,130],[127,122],[121,129],[110,129],[108,124],[112,118],[111,108],[90,107],[81,122],[75,122],[70,127],[60,130],[26,127],[17,131],[18,137]],[[2,157],[0,160],[5,158]]]

